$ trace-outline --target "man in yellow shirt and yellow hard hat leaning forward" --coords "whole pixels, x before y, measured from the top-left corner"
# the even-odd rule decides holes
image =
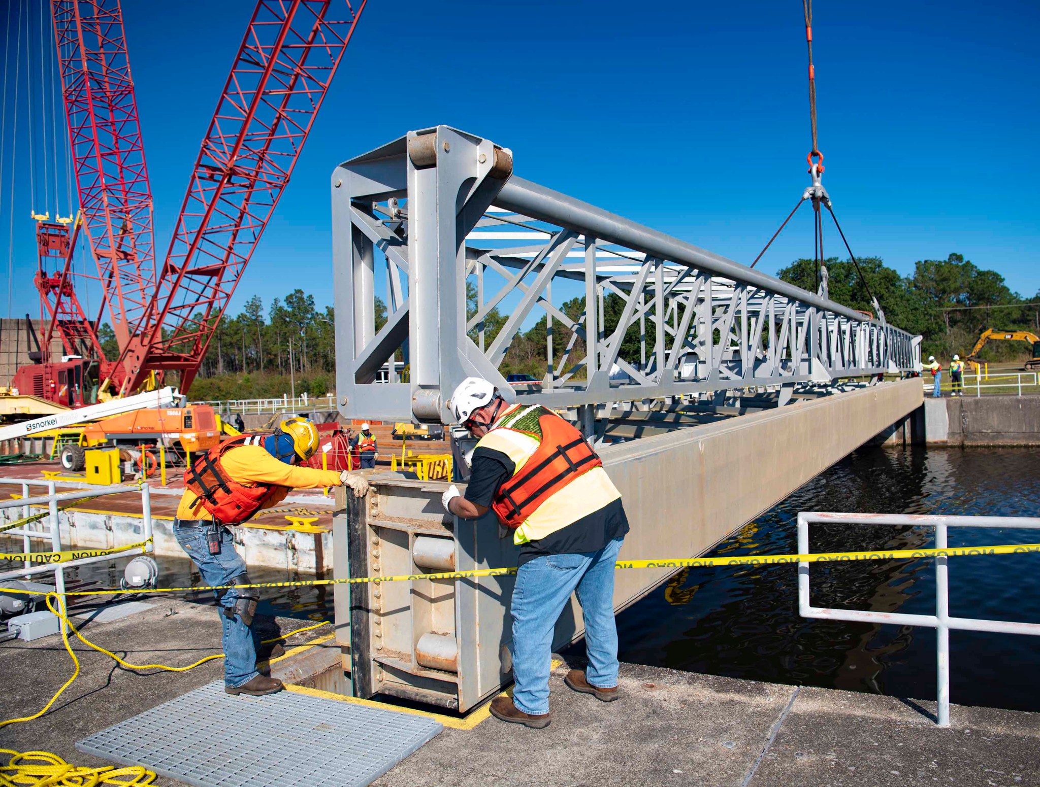
[[[318,432],[306,418],[290,418],[272,435],[225,440],[197,458],[184,474],[174,535],[207,585],[250,584],[245,561],[235,552],[229,526],[281,502],[291,489],[347,486],[368,492],[360,475],[297,467],[314,455]],[[282,681],[256,670],[251,625],[260,594],[255,587],[214,591],[224,627],[224,688],[229,694],[269,694]]]

